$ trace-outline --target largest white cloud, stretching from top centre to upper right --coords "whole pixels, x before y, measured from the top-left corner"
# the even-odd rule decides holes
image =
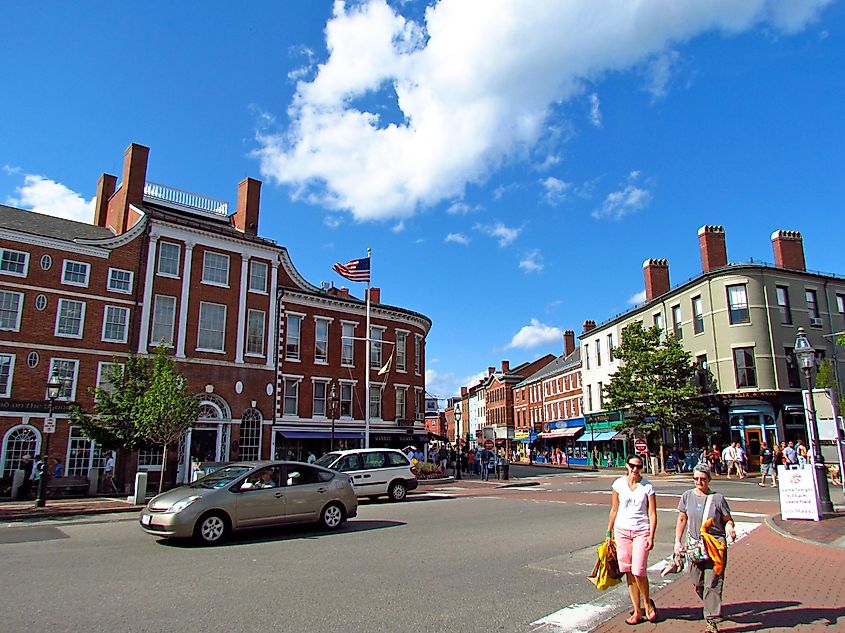
[[[338,1],[290,125],[257,132],[261,172],[357,220],[406,218],[527,158],[585,81],[708,31],[795,32],[829,1],[441,0],[421,23],[386,0]]]

